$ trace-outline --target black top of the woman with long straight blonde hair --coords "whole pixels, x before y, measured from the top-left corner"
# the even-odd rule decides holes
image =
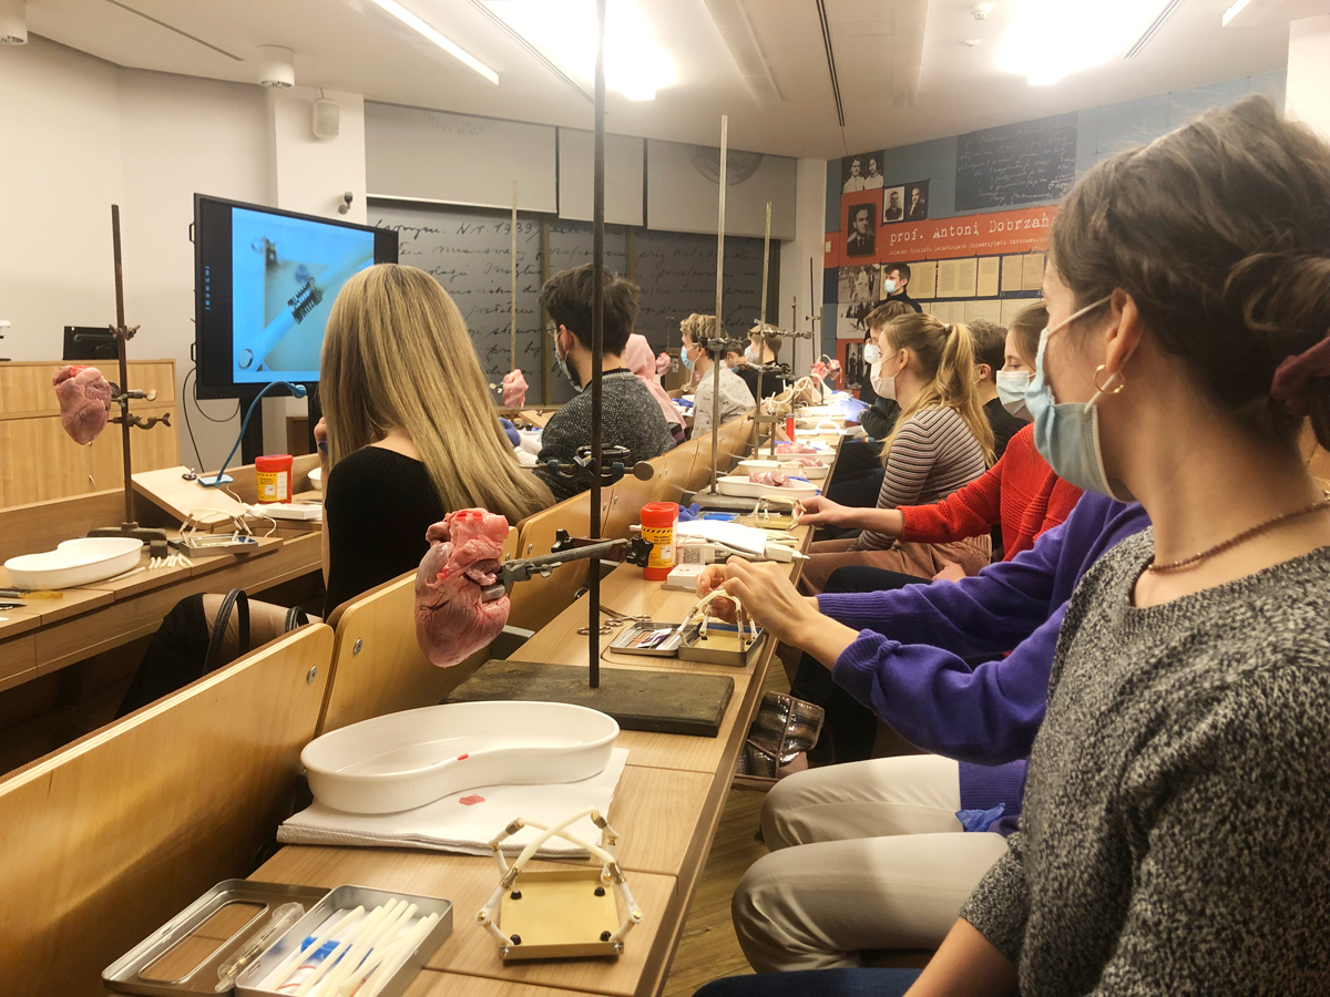
[[[323,618],[415,569],[430,549],[426,530],[444,512],[419,460],[363,447],[332,468],[323,483],[330,561]]]

